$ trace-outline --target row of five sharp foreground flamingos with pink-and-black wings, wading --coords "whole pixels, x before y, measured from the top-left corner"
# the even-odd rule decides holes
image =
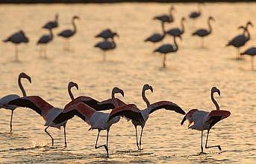
[[[218,103],[216,102],[213,94],[217,93],[220,96],[220,91],[218,88],[211,88],[210,98],[213,104],[216,106],[216,109],[213,111],[202,111],[199,109],[192,109],[186,112],[174,102],[170,102],[168,100],[163,100],[159,102],[151,103],[149,99],[146,97],[146,91],[151,91],[153,93],[153,88],[151,85],[143,85],[142,89],[142,99],[146,103],[146,108],[140,110],[137,108],[137,105],[123,102],[121,99],[115,97],[116,94],[121,94],[123,97],[125,96],[124,91],[122,89],[114,87],[109,99],[105,100],[97,100],[93,99],[90,96],[78,96],[74,97],[71,89],[78,89],[78,84],[75,82],[69,82],[67,86],[67,90],[70,96],[70,102],[68,102],[64,108],[57,108],[51,105],[49,102],[46,102],[40,96],[27,96],[25,89],[22,85],[22,79],[27,79],[31,83],[31,77],[26,73],[20,73],[18,77],[18,85],[20,90],[22,91],[22,96],[17,94],[9,94],[0,99],[0,108],[6,108],[11,111],[10,116],[10,132],[12,132],[12,122],[13,122],[13,111],[18,108],[30,108],[31,110],[40,114],[41,117],[45,120],[45,132],[51,137],[51,145],[54,145],[54,138],[49,134],[47,129],[49,127],[60,129],[63,127],[64,133],[64,142],[66,147],[66,122],[72,117],[77,116],[80,117],[84,122],[90,125],[89,130],[98,130],[98,135],[96,137],[96,145],[95,148],[104,147],[107,152],[108,157],[108,137],[109,131],[113,124],[119,122],[119,119],[125,117],[131,121],[134,125],[136,132],[136,145],[138,150],[143,150],[142,148],[142,136],[143,136],[143,128],[146,125],[146,121],[149,119],[150,114],[159,109],[166,109],[168,111],[174,111],[177,114],[184,115],[184,118],[181,121],[181,125],[187,120],[189,122],[188,127],[191,129],[195,129],[202,132],[207,131],[207,139],[205,143],[205,148],[219,148],[219,151],[222,151],[220,145],[207,145],[208,136],[210,129],[222,119],[225,119],[230,116],[230,111],[224,111],[219,108]],[[102,112],[105,110],[112,110],[110,113]],[[137,126],[141,127],[140,131],[140,141],[138,140],[137,134]],[[99,140],[99,134],[101,131],[107,131],[106,144],[97,145]],[[201,140],[202,140],[201,137]],[[201,142],[201,153],[204,154],[203,142]]]

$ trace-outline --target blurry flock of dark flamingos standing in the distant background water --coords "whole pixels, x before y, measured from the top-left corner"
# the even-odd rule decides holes
[[[202,16],[202,5],[205,5],[204,3],[200,2],[198,3],[198,10],[191,12],[189,15],[189,19],[198,19],[200,16]],[[160,16],[155,16],[153,19],[157,20],[161,24],[162,32],[161,33],[153,33],[152,36],[149,36],[144,41],[145,42],[162,42],[163,39],[168,35],[173,37],[173,44],[163,44],[160,47],[157,47],[153,52],[158,52],[163,54],[163,68],[166,67],[166,54],[168,53],[175,53],[178,51],[178,44],[176,39],[181,39],[181,36],[185,32],[184,22],[186,22],[186,19],[183,17],[181,19],[181,28],[175,27],[169,30],[165,29],[165,24],[169,24],[172,22],[175,22],[175,18],[173,15],[173,11],[175,10],[175,7],[169,8],[168,14],[163,14]],[[64,49],[69,50],[69,39],[77,33],[77,27],[75,24],[75,20],[78,20],[78,16],[72,17],[72,26],[73,29],[63,30],[62,32],[58,33],[57,36],[63,37],[65,39],[64,43]],[[194,31],[192,33],[192,36],[199,36],[202,38],[202,47],[204,47],[204,38],[206,36],[209,36],[213,29],[211,27],[211,22],[214,21],[214,18],[212,16],[209,16],[207,19],[207,25],[208,29],[202,28]],[[37,45],[40,45],[40,56],[42,57],[43,54],[46,57],[46,45],[48,45],[52,39],[54,38],[54,34],[52,33],[52,29],[59,26],[58,23],[58,14],[56,14],[54,21],[46,23],[43,28],[49,30],[49,35],[43,35],[40,37],[40,39],[37,42]],[[256,47],[250,47],[248,50],[245,50],[244,52],[240,53],[240,47],[243,47],[246,45],[246,42],[249,42],[251,39],[250,33],[249,33],[249,26],[253,26],[252,22],[248,22],[246,26],[240,26],[239,29],[243,30],[243,33],[240,35],[235,36],[233,39],[231,39],[227,46],[233,46],[237,48],[237,59],[242,59],[242,56],[249,55],[251,56],[252,60],[252,70],[254,69],[254,56],[256,55]],[[101,33],[96,35],[96,38],[102,38],[103,40],[101,42],[96,43],[94,47],[98,47],[100,50],[104,51],[104,57],[103,60],[106,60],[106,52],[109,50],[113,50],[116,48],[116,42],[114,40],[115,36],[119,36],[116,32],[110,29],[102,30]],[[4,39],[4,42],[12,42],[15,44],[15,56],[16,60],[18,60],[18,47],[20,43],[28,43],[29,39],[28,36],[25,35],[25,32],[23,30],[19,30],[18,32],[14,33],[7,39]]]

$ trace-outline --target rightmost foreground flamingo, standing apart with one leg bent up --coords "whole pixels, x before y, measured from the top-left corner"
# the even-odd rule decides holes
[[[229,117],[231,114],[230,111],[219,110],[219,105],[213,96],[214,93],[218,93],[220,96],[219,89],[216,87],[213,87],[211,88],[211,93],[210,93],[210,98],[213,104],[216,106],[216,110],[208,112],[208,111],[201,111],[198,109],[192,109],[185,115],[184,119],[182,119],[181,121],[181,125],[183,125],[184,122],[188,120],[189,128],[195,129],[197,131],[201,131],[201,154],[204,153],[203,151],[203,131],[204,130],[207,130],[205,148],[217,147],[219,148],[219,151],[222,151],[222,148],[220,147],[220,145],[207,146],[208,136],[209,136],[210,129],[213,127],[213,125],[215,125],[220,120]],[[193,125],[191,125],[192,123]]]

